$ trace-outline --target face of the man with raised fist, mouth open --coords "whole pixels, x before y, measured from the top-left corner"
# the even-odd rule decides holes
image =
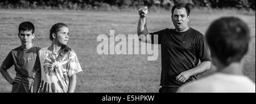
[[[189,16],[185,8],[175,8],[174,14],[172,14],[172,22],[177,31],[184,32],[188,28]],[[184,31],[183,31],[184,30]]]

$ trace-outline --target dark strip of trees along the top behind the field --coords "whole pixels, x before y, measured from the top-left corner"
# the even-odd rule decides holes
[[[254,0],[0,0],[1,8],[52,8],[71,10],[111,10],[141,6],[170,9],[176,3],[191,8],[238,8],[255,10]]]

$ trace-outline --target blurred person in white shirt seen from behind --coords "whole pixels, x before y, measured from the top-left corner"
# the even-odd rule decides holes
[[[250,31],[235,17],[213,21],[205,34],[217,72],[177,90],[181,93],[255,93],[255,83],[243,75],[243,57],[249,49]]]

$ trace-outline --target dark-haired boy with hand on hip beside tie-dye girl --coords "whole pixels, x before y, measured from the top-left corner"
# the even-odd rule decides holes
[[[35,27],[30,21],[24,21],[19,24],[18,37],[21,45],[11,50],[0,67],[0,72],[3,77],[13,85],[12,93],[31,93],[33,88],[33,80],[35,72],[33,72],[36,57],[39,47],[32,44],[35,38]],[[7,71],[11,66],[14,66],[16,76],[14,79]]]

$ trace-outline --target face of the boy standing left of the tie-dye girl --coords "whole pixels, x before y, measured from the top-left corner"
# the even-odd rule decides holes
[[[31,31],[21,31],[19,33],[19,39],[22,45],[27,46],[32,44],[32,39],[35,38],[35,33],[32,33]]]

